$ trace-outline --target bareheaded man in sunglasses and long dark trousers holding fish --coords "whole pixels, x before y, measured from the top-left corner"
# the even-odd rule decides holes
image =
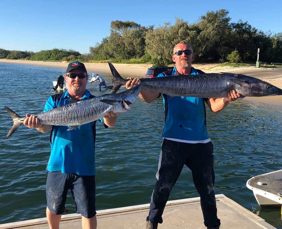
[[[185,41],[174,46],[172,60],[175,67],[172,70],[160,73],[157,77],[167,75],[197,75],[201,70],[193,68],[193,48]],[[130,79],[126,88],[137,86],[140,79]],[[139,97],[150,103],[160,97],[160,93],[141,89]],[[204,225],[207,228],[219,228],[216,200],[214,193],[214,152],[213,144],[209,139],[206,127],[207,103],[214,113],[220,112],[229,102],[240,97],[235,90],[228,92],[225,98],[199,97],[170,97],[163,94],[164,103],[164,130],[157,182],[151,197],[150,211],[147,217],[147,229],[157,228],[162,223],[162,213],[169,194],[176,183],[184,164],[191,169],[194,185],[200,195],[201,207],[204,215]]]

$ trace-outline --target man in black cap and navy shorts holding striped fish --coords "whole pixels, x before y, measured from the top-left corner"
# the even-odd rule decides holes
[[[48,98],[44,112],[69,103],[68,99],[84,100],[94,97],[86,90],[87,70],[83,63],[68,65],[65,74],[68,90]],[[105,128],[113,127],[116,114],[109,112],[99,120]],[[46,216],[49,227],[59,228],[70,189],[77,213],[82,215],[83,228],[96,228],[95,210],[95,137],[96,121],[67,131],[67,126],[40,125],[38,118],[26,114],[24,125],[41,133],[51,130],[51,155],[46,182]]]

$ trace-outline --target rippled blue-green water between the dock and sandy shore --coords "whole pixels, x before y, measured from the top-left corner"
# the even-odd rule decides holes
[[[50,154],[49,135],[24,126],[2,140],[12,124],[2,107],[6,105],[21,116],[41,112],[47,98],[55,93],[51,81],[63,73],[61,68],[0,63],[0,223],[45,217],[45,169]],[[111,85],[110,75],[99,74]],[[120,114],[113,128],[97,124],[97,210],[150,202],[163,121],[160,98],[152,104],[138,99],[129,112]],[[216,194],[223,193],[280,228],[279,209],[260,209],[246,181],[281,169],[281,124],[278,106],[243,100],[231,103],[219,114],[207,110],[215,153]],[[184,168],[169,200],[197,196],[191,171]],[[75,213],[70,193],[66,208]]]

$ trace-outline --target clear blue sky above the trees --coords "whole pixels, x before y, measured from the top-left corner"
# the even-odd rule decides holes
[[[175,4],[173,2],[176,2]],[[184,2],[184,1],[183,1]],[[282,32],[281,1],[1,1],[0,48],[40,51],[52,48],[89,52],[110,35],[110,22],[142,26],[174,24],[175,17],[196,22],[207,11],[226,9],[264,32]]]

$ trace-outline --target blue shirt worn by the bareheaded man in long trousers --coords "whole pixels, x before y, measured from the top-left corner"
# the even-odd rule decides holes
[[[179,74],[174,67],[171,75]],[[198,75],[195,68],[191,68],[191,75]],[[157,77],[165,77],[160,73]],[[206,126],[206,110],[204,98],[171,96],[163,94],[164,103],[164,131],[162,137],[187,143],[210,142]]]

